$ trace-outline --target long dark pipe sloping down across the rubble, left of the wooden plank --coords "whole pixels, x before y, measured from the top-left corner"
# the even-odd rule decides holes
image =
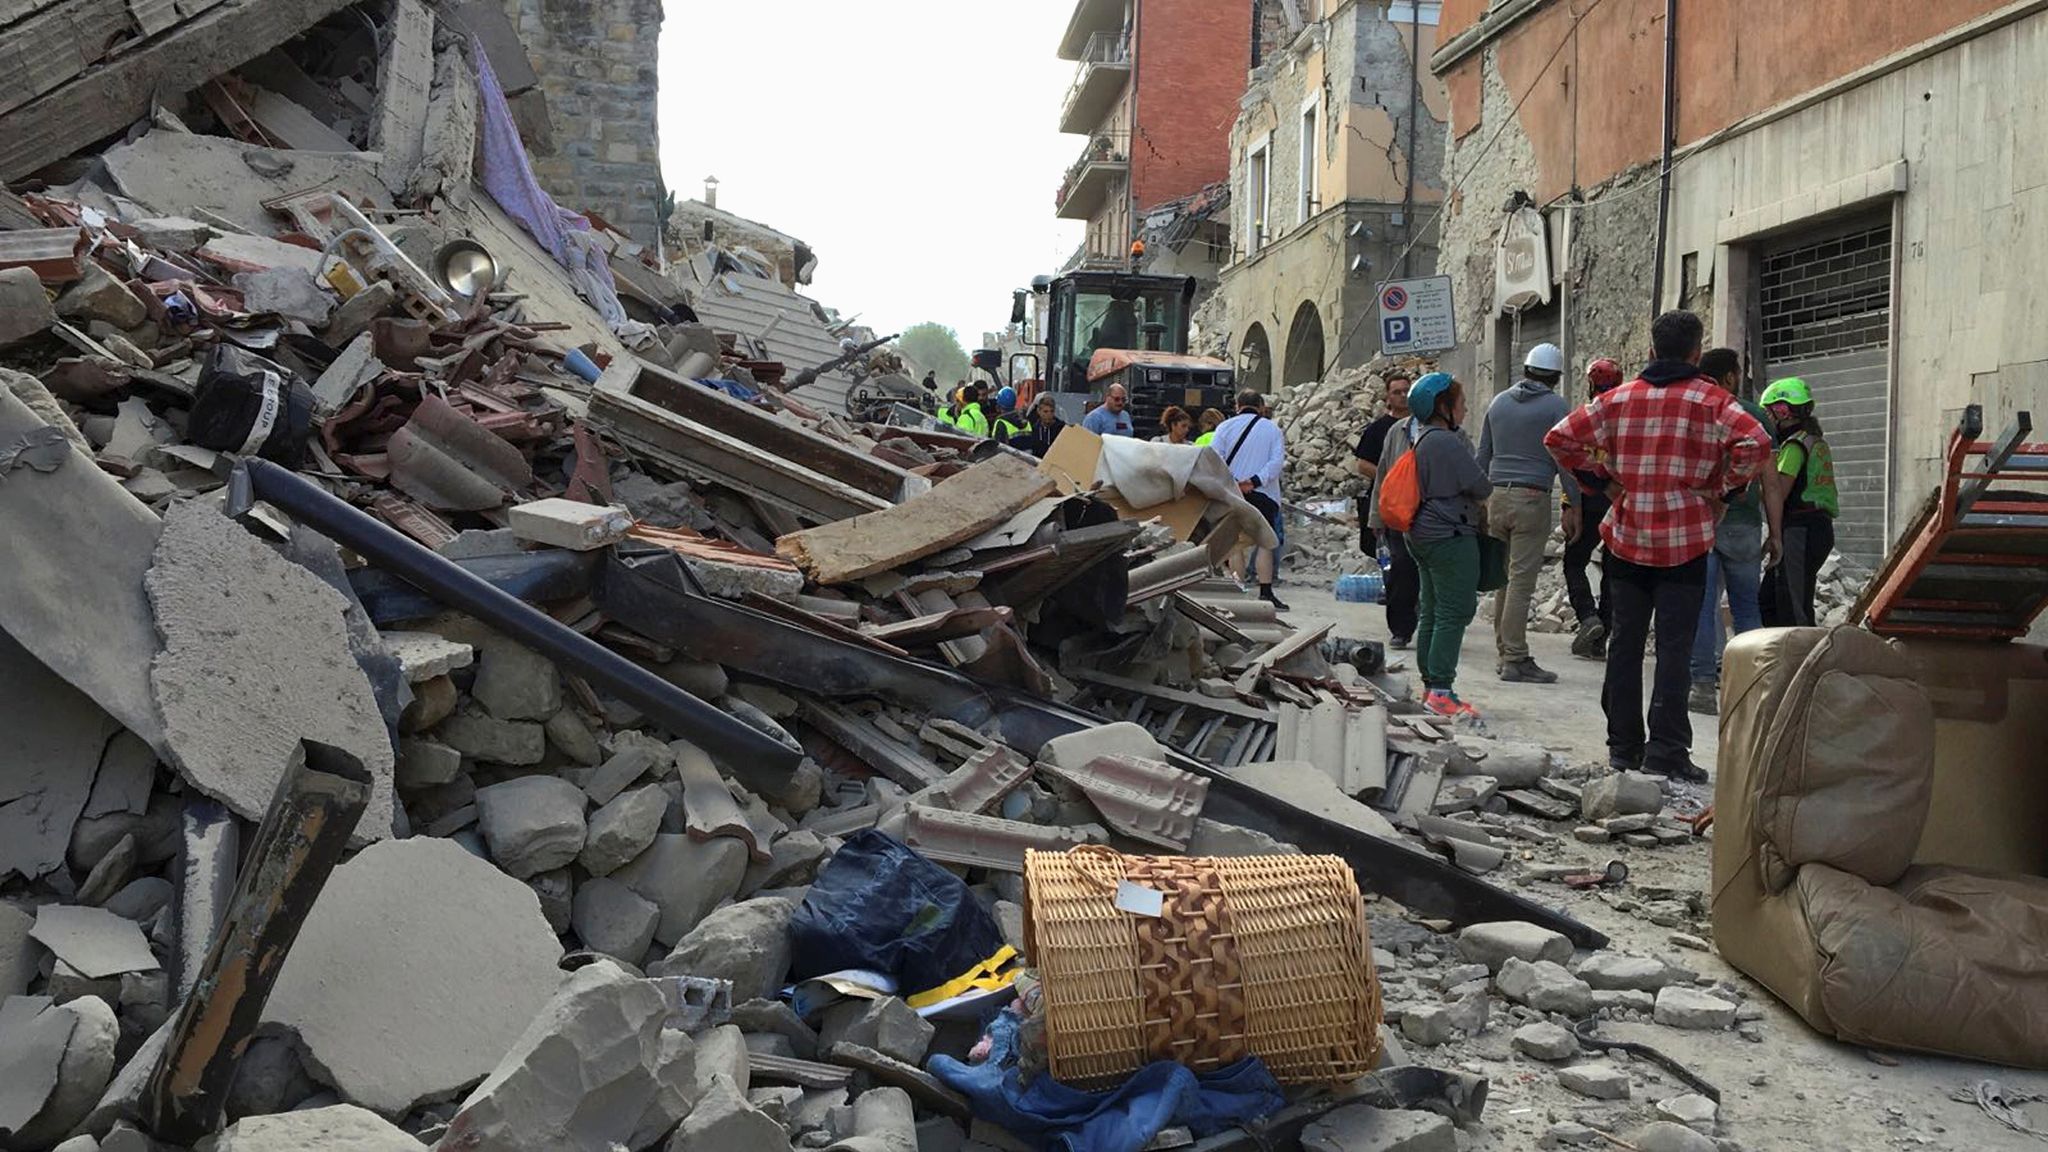
[[[229,515],[244,512],[252,498],[276,504],[293,519],[352,547],[371,564],[406,578],[451,609],[465,611],[526,648],[610,689],[618,699],[645,711],[670,732],[702,746],[723,765],[770,767],[786,773],[803,763],[803,754],[793,752],[780,740],[756,732],[610,648],[555,623],[547,613],[500,592],[291,469],[266,459],[240,459],[227,492]]]

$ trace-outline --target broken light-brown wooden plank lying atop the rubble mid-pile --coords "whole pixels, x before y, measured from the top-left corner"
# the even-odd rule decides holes
[[[811,580],[846,584],[975,539],[1053,492],[1034,461],[997,455],[895,508],[791,533],[774,547]]]

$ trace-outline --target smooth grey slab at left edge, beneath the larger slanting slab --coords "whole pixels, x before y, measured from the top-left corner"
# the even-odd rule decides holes
[[[119,730],[84,693],[0,631],[0,732],[6,732],[0,879],[35,879],[63,867],[100,756]]]

